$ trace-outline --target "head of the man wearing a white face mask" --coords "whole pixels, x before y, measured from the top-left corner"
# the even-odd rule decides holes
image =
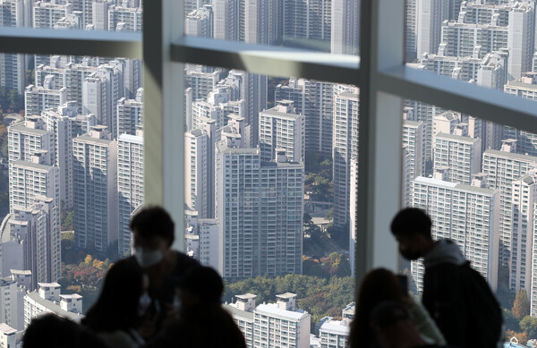
[[[174,242],[175,224],[161,207],[143,208],[132,217],[131,230],[135,257],[141,267],[157,265]]]

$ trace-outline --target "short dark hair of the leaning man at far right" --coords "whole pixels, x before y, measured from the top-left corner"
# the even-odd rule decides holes
[[[404,208],[396,214],[390,229],[394,235],[420,233],[430,237],[430,227],[432,221],[423,209]]]

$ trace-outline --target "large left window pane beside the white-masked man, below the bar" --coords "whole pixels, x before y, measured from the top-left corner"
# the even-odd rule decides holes
[[[22,330],[40,311],[20,315],[23,291],[54,299],[49,310],[84,312],[110,263],[131,253],[129,221],[143,202],[141,61],[0,54],[0,62],[0,275],[13,284],[0,322]]]

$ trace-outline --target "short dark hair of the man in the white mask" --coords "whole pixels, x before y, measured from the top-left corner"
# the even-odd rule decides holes
[[[174,242],[174,220],[162,207],[141,209],[132,217],[130,227],[132,232],[140,233],[143,238],[161,237]]]

